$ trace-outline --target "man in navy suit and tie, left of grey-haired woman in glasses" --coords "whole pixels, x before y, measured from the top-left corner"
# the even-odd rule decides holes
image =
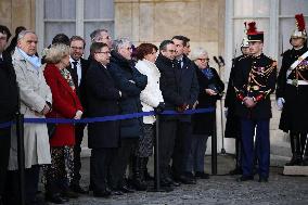
[[[184,36],[175,36],[172,41],[176,46],[176,78],[178,78],[178,93],[184,99],[184,110],[193,108],[198,97],[198,82],[193,62],[184,54],[190,41]],[[195,180],[191,172],[185,172],[188,155],[191,151],[191,116],[180,116],[178,121],[175,151],[172,154],[172,174],[177,181],[194,184]]]

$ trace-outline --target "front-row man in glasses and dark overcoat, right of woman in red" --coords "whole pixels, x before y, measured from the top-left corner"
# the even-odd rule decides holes
[[[91,48],[92,62],[87,73],[88,116],[102,117],[118,115],[121,92],[115,87],[110,73],[111,52],[107,44],[93,42]],[[89,124],[90,179],[93,195],[107,197],[107,172],[112,156],[119,145],[119,121]]]

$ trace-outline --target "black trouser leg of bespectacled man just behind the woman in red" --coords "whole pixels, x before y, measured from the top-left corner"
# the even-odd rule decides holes
[[[70,182],[72,185],[79,185],[81,179],[80,169],[81,169],[81,142],[84,138],[84,129],[86,124],[78,124],[75,126],[75,146],[74,146],[74,175]]]

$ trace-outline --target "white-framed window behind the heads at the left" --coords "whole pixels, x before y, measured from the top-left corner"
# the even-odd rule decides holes
[[[113,0],[42,0],[36,1],[36,31],[39,51],[51,43],[60,33],[68,37],[81,36],[86,39],[86,56],[89,55],[90,34],[105,28],[114,35]]]

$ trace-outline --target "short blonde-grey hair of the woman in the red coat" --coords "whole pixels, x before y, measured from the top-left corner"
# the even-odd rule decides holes
[[[66,55],[69,55],[69,47],[63,43],[56,43],[52,44],[47,50],[44,61],[46,63],[56,64]]]

